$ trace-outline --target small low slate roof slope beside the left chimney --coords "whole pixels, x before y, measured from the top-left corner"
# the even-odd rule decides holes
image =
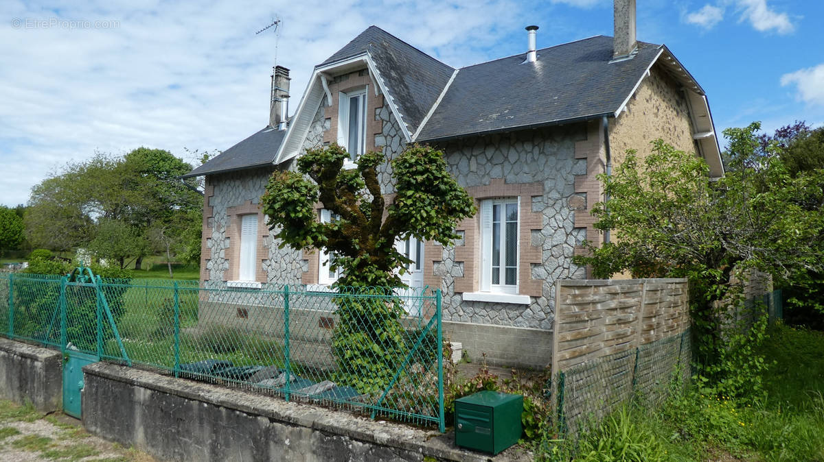
[[[182,178],[199,177],[212,173],[232,172],[271,165],[278,152],[286,130],[264,127],[260,132],[246,138],[220,155],[209,159],[206,164],[183,175]]]

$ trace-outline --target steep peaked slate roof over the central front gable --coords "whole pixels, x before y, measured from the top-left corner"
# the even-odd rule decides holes
[[[410,133],[418,129],[455,69],[371,25],[317,67],[368,52]]]

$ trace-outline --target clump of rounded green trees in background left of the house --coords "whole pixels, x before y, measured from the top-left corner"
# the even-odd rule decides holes
[[[201,225],[191,216],[201,210],[203,197],[194,182],[179,179],[190,169],[166,150],[143,147],[122,157],[98,154],[68,164],[32,189],[26,236],[37,247],[60,252],[89,246],[121,266],[158,250],[180,250],[191,258],[200,247],[191,235]],[[158,229],[167,241],[162,249],[149,245]]]

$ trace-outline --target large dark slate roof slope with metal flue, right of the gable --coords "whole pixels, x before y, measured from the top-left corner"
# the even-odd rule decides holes
[[[536,127],[615,113],[662,49],[638,43],[610,62],[612,37],[598,35],[461,68],[416,141]]]

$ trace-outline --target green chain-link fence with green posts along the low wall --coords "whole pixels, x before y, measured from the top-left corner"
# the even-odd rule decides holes
[[[10,339],[444,431],[441,294],[0,275]]]

